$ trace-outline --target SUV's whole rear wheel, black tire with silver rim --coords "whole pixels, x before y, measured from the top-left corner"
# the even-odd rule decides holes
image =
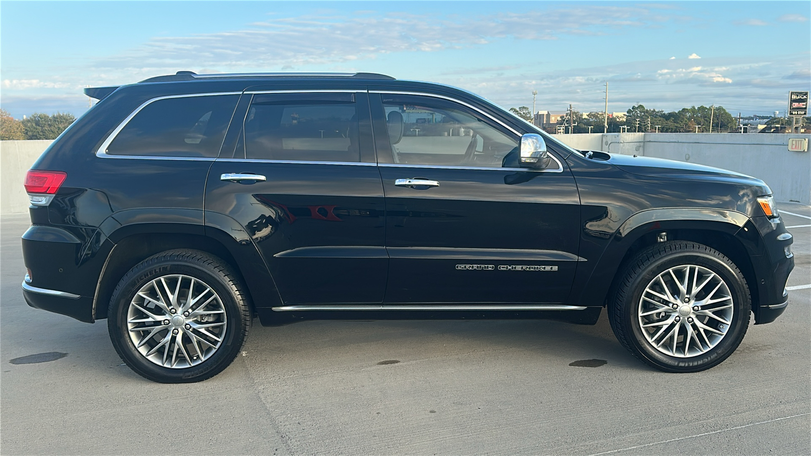
[[[222,372],[251,328],[251,305],[237,274],[216,256],[185,249],[130,269],[107,315],[109,338],[124,363],[160,383]]]

